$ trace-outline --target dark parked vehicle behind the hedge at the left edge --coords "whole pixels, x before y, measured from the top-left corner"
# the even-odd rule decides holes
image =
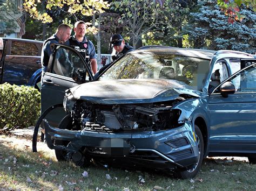
[[[0,84],[33,86],[41,89],[43,41],[0,38]]]

